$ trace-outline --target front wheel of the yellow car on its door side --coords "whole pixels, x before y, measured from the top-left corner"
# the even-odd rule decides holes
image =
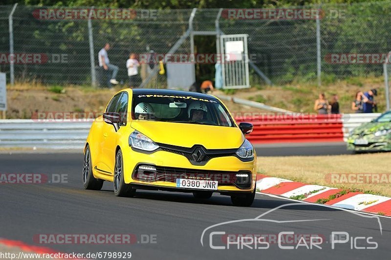
[[[124,161],[121,150],[118,150],[115,156],[114,178],[113,178],[114,195],[117,197],[133,197],[136,193],[130,184],[124,180]]]

